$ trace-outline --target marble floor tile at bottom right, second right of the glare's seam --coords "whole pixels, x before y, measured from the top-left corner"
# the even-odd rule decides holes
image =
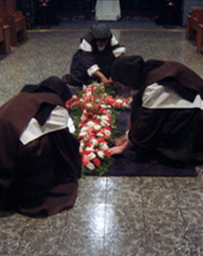
[[[190,255],[179,209],[146,210],[147,255]]]

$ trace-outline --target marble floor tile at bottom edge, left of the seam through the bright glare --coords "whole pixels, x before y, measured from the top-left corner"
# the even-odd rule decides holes
[[[105,238],[105,204],[76,205],[63,228],[58,255],[102,255]]]

